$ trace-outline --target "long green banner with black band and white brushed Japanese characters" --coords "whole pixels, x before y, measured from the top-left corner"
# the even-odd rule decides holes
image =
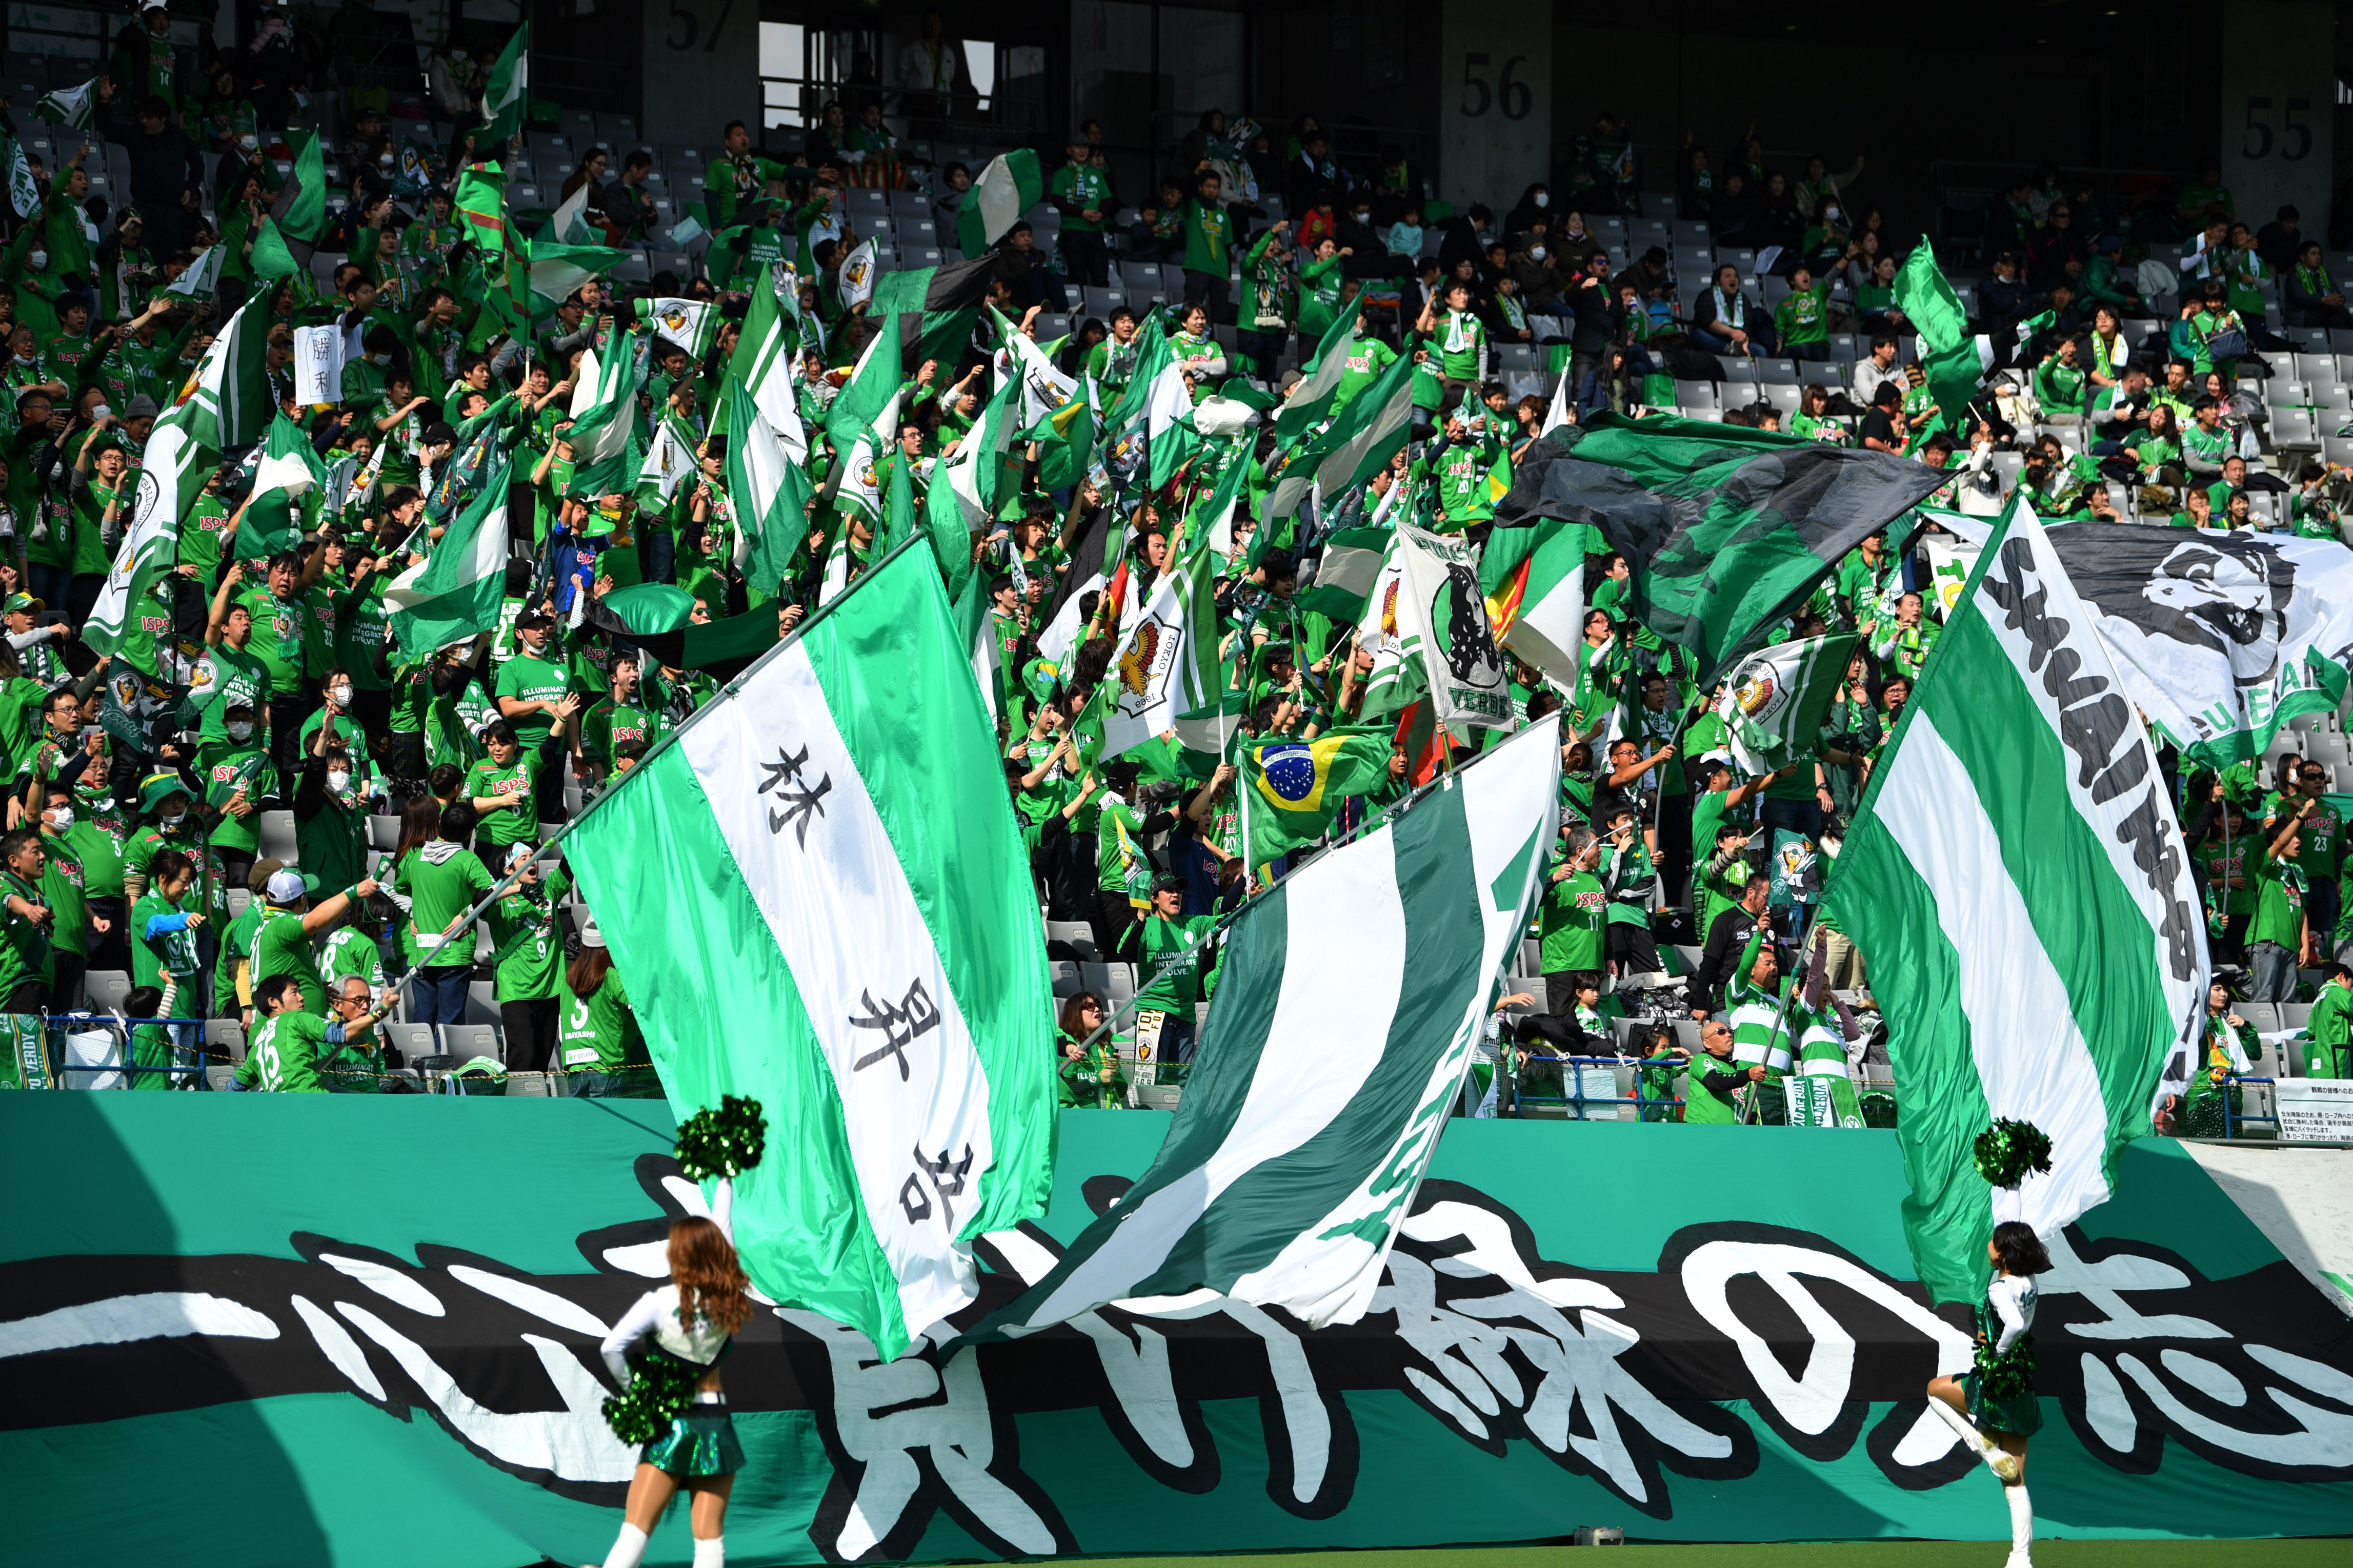
[[[1165,1131],[1066,1112],[974,1316]],[[600,1561],[635,1455],[595,1345],[701,1201],[671,1138],[652,1100],[0,1095],[0,1171],[42,1194],[0,1227],[21,1561]],[[2042,1533],[2341,1533],[2346,1319],[2184,1147],[2118,1180],[2042,1276]],[[1922,1415],[1967,1335],[1901,1192],[1878,1131],[1454,1121],[1353,1326],[1184,1298],[878,1366],[762,1314],[725,1371],[729,1561],[2000,1535]],[[687,1559],[673,1509],[647,1561]]]

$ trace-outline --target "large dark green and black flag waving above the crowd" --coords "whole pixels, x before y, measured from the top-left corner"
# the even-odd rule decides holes
[[[1494,534],[1541,517],[1595,524],[1633,567],[1635,621],[1689,649],[1711,686],[1944,480],[1889,451],[1602,411],[1527,449]]]

